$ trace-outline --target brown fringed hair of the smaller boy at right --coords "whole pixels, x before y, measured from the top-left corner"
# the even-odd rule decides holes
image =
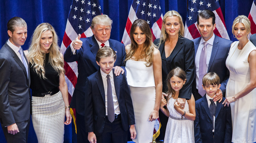
[[[203,86],[205,85],[219,85],[220,84],[220,77],[215,72],[206,73],[203,76]]]

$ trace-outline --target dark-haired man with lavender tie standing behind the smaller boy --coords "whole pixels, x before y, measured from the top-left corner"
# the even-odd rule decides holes
[[[213,34],[215,26],[215,14],[212,11],[202,10],[198,14],[197,27],[202,37],[192,40],[195,47],[195,75],[192,87],[192,93],[195,97],[195,100],[202,98],[205,94],[205,91],[203,91],[204,93],[201,94],[198,92],[198,90],[203,90],[201,86],[202,78],[200,78],[199,74],[204,75],[207,72],[216,72],[219,75],[221,81],[221,87],[217,91],[216,97],[214,97],[214,101],[221,101],[222,97],[225,96],[226,84],[229,78],[229,71],[226,68],[225,62],[232,41],[220,38]],[[204,47],[204,42],[208,43],[206,46],[207,57],[205,59],[206,61],[204,61],[207,71],[205,71],[205,73],[200,73],[202,64],[200,65],[199,63],[200,60],[202,60],[200,56]]]

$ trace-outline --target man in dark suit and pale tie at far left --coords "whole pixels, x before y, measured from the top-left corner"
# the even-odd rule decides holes
[[[0,122],[7,143],[26,143],[32,108],[29,64],[21,46],[27,39],[27,24],[13,17],[7,29],[9,40],[0,50]]]

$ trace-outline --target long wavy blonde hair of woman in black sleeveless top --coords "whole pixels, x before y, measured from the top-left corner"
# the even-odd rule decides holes
[[[50,30],[53,33],[53,43],[49,49],[49,63],[53,66],[54,70],[65,74],[65,70],[63,68],[64,61],[60,57],[59,46],[58,46],[58,37],[53,26],[49,23],[39,24],[33,32],[31,44],[29,47],[28,59],[32,64],[33,70],[40,76],[40,78],[47,79],[45,77],[45,52],[40,47],[40,40],[42,37],[42,33]]]

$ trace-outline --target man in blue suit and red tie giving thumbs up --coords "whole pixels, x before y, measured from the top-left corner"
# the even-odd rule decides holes
[[[94,17],[91,24],[94,36],[81,38],[81,35],[79,34],[64,53],[64,60],[66,62],[77,61],[78,67],[77,84],[70,103],[70,107],[76,109],[78,143],[88,142],[88,133],[85,132],[84,124],[84,94],[87,92],[85,90],[85,82],[88,76],[99,70],[99,66],[95,61],[98,49],[105,45],[112,47],[117,54],[117,60],[114,64],[115,74],[119,75],[120,72],[124,72],[120,66],[124,66],[123,61],[126,56],[125,48],[122,43],[109,39],[111,25],[112,20],[107,15],[98,15]]]

